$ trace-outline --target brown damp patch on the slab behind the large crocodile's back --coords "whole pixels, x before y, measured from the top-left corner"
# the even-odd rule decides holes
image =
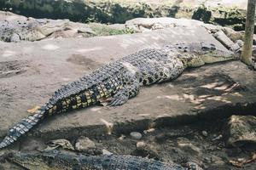
[[[75,65],[82,65],[83,67],[86,67],[89,70],[95,70],[103,65],[101,62],[97,62],[94,59],[89,59],[81,54],[73,54],[71,57],[67,59],[67,61]]]

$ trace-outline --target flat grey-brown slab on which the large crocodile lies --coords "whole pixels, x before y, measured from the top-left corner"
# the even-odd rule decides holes
[[[166,43],[201,41],[212,42],[218,48],[224,49],[200,26],[178,26],[142,34],[113,37],[0,42],[0,137],[4,137],[9,127],[27,116],[28,109],[43,105],[61,85],[73,82],[105,63],[143,48],[159,48]],[[152,127],[160,128],[152,136],[150,133],[145,136],[145,140],[151,143],[156,134],[163,133],[165,136],[164,133],[168,131],[175,132],[175,128],[177,133],[183,131],[183,127],[176,126],[178,124],[194,122],[197,126],[209,119],[213,123],[207,124],[202,129],[209,128],[209,132],[212,130],[209,133],[212,139],[214,133],[218,134],[218,129],[213,129],[214,123],[218,123],[218,118],[232,114],[255,115],[255,82],[255,72],[248,70],[247,66],[239,61],[202,66],[185,71],[175,81],[142,88],[141,93],[125,105],[96,106],[53,116],[42,122],[28,137],[21,139],[11,148],[35,150],[44,146],[43,143],[49,139],[74,140],[79,136],[88,136],[103,140],[102,145],[108,150],[129,154],[135,142],[127,139],[124,140],[124,144],[119,144],[117,138],[121,133],[143,131]],[[161,129],[161,127],[170,126],[172,126],[171,130],[170,128]],[[194,127],[189,129],[193,130]],[[183,133],[181,137],[185,139],[181,140],[191,142],[199,148],[212,144],[215,150],[218,146],[215,142],[213,142],[214,145],[206,140],[201,144],[201,137],[197,139],[196,136],[201,136],[199,133],[202,129],[197,131],[194,129],[193,133],[189,134]],[[176,160],[181,159],[182,156],[175,153],[185,156],[189,151],[172,150],[173,147],[177,147],[175,144],[178,140],[176,137],[172,139],[160,139],[164,144],[157,146],[160,147],[157,151],[158,155],[164,161],[173,159],[173,161],[182,162]],[[125,149],[126,144],[128,149]],[[168,144],[170,145],[166,146]],[[197,148],[194,149],[197,150]],[[123,150],[126,151],[123,152]],[[169,154],[162,152],[164,150],[166,152],[172,150],[173,155],[170,154],[172,152]],[[201,161],[205,154],[210,153],[206,150],[202,152],[203,154],[199,154],[195,161],[200,161],[199,163],[204,165]],[[189,157],[195,157],[193,154],[190,153]],[[229,168],[232,169],[232,167]]]

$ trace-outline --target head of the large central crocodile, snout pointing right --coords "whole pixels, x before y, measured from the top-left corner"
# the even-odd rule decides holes
[[[217,48],[212,43],[177,43],[167,48],[177,52],[177,57],[188,67],[198,67],[205,64],[238,59],[229,50]]]

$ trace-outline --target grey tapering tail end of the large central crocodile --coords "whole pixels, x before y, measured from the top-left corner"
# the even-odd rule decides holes
[[[14,143],[21,135],[28,132],[32,127],[38,124],[46,116],[47,110],[41,107],[34,115],[27,116],[18,122],[14,127],[9,129],[9,133],[0,143],[0,149],[7,147],[9,144]]]

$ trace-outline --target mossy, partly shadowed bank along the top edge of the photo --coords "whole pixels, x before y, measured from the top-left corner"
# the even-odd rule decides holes
[[[201,4],[203,5],[201,6]],[[160,0],[157,2],[148,0],[10,0],[0,1],[0,9],[11,10],[35,18],[68,18],[74,21],[125,23],[126,20],[138,17],[167,16],[188,19],[193,17],[195,20],[217,23],[222,26],[235,26],[245,20],[245,4],[245,0],[239,2],[207,1],[204,3],[201,0]]]

